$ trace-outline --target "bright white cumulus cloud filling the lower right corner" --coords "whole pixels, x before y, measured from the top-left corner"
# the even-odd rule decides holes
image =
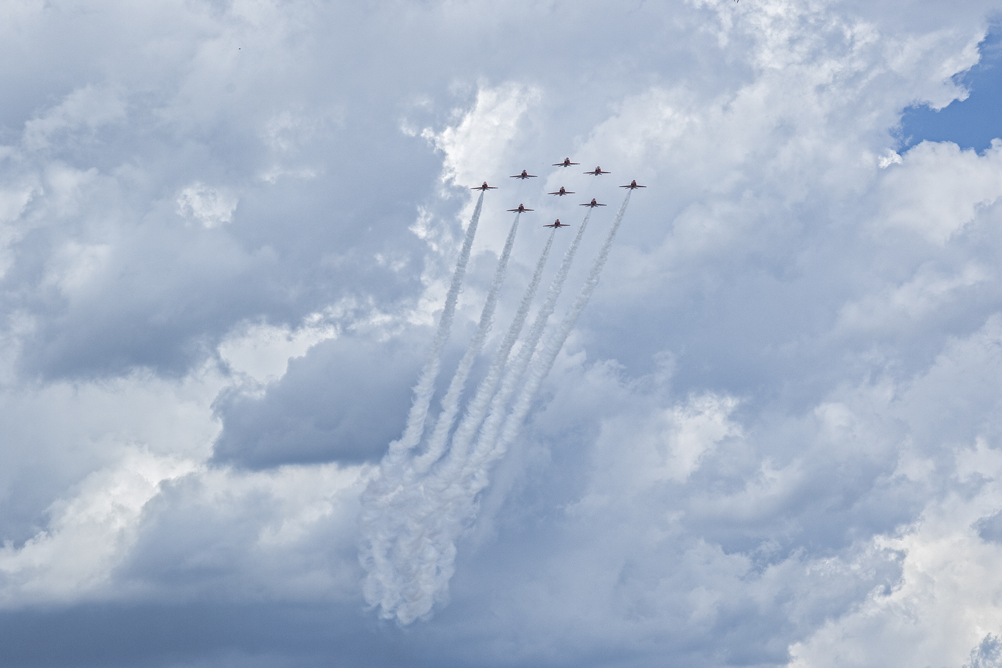
[[[912,438],[901,448],[896,476],[938,494],[922,497],[912,523],[873,539],[905,556],[890,596],[868,598],[858,611],[798,644],[797,665],[873,665],[875,657],[903,665],[956,664],[998,633],[1002,581],[992,566],[999,558],[992,527],[1002,506],[1002,459],[994,418],[999,388],[992,376],[1002,364],[1000,337],[996,316],[973,336],[952,342],[902,393],[895,412],[911,425]],[[931,411],[957,421],[944,428]],[[892,647],[904,658],[890,657]]]

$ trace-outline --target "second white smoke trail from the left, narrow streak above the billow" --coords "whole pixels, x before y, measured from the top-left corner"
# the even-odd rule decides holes
[[[477,355],[480,354],[480,351],[484,347],[484,339],[487,338],[487,332],[494,322],[494,309],[498,302],[498,292],[501,290],[501,284],[504,283],[505,274],[508,270],[508,258],[511,257],[511,249],[515,245],[515,234],[518,232],[518,221],[521,217],[521,213],[515,214],[515,222],[511,224],[511,230],[508,232],[508,239],[505,241],[504,250],[501,252],[501,257],[498,258],[497,269],[494,270],[494,280],[491,282],[491,288],[487,292],[487,300],[484,302],[484,308],[480,312],[480,323],[477,325],[477,331],[470,341],[470,346],[466,349],[466,354],[463,355],[463,359],[460,360],[459,366],[456,368],[456,374],[449,383],[448,391],[446,391],[445,396],[442,398],[442,412],[439,413],[438,421],[435,423],[435,430],[428,441],[428,450],[414,460],[413,467],[416,475],[421,475],[427,471],[429,466],[438,461],[438,458],[442,456],[442,450],[445,449],[445,443],[449,439],[449,432],[452,430],[452,425],[456,420],[456,413],[459,411],[459,398],[466,387],[466,379],[470,375],[470,369],[473,368],[473,363],[476,361]]]

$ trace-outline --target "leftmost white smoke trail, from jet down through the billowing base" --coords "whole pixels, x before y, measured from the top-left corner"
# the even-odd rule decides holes
[[[407,426],[400,439],[390,443],[390,448],[380,462],[379,472],[369,483],[362,494],[362,540],[359,548],[359,561],[368,571],[369,576],[364,585],[364,595],[370,605],[380,603],[384,610],[395,607],[399,599],[400,588],[392,582],[392,570],[389,569],[389,552],[395,537],[400,533],[400,513],[396,510],[406,503],[406,475],[404,464],[411,450],[421,442],[424,433],[428,407],[431,404],[435,390],[435,379],[438,377],[442,360],[442,348],[449,338],[453,317],[456,312],[456,301],[459,290],[466,275],[466,265],[470,260],[470,249],[473,238],[477,234],[480,222],[480,212],[483,209],[484,193],[480,194],[473,210],[470,225],[466,230],[466,239],[456,262],[456,271],[452,276],[449,292],[446,294],[445,307],[439,321],[438,332],[432,340],[428,358],[421,370],[418,384],[414,386],[414,401],[407,416]]]

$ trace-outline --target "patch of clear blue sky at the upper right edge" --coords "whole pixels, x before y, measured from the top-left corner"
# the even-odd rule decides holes
[[[942,109],[910,106],[901,118],[904,148],[923,140],[954,141],[978,152],[1002,137],[1002,24],[992,26],[980,44],[981,60],[960,78],[970,95]]]

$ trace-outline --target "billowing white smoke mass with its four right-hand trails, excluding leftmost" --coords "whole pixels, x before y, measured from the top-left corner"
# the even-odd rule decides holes
[[[456,377],[443,399],[443,411],[429,441],[428,450],[416,456],[411,446],[411,449],[405,451],[407,461],[393,462],[390,470],[397,471],[398,474],[392,481],[387,471],[381,471],[379,485],[374,483],[370,486],[370,490],[378,491],[381,495],[376,497],[367,491],[363,518],[365,544],[361,553],[362,563],[368,571],[364,593],[371,605],[381,608],[383,617],[396,618],[403,624],[409,624],[430,614],[435,602],[444,601],[448,596],[449,580],[454,571],[456,540],[466,523],[474,519],[476,497],[489,482],[491,465],[517,437],[536,391],[591,297],[628,203],[629,194],[619,208],[580,294],[557,331],[539,353],[535,354],[587,228],[591,217],[589,210],[564,254],[546,301],[540,307],[518,355],[509,365],[508,357],[528,316],[549,255],[553,241],[553,235],[550,235],[508,334],[495,353],[487,375],[467,406],[466,414],[453,435],[451,446],[443,456],[448,432],[458,412],[459,396],[493,316],[495,304],[491,300],[496,301],[497,294],[495,285],[492,285],[488,304],[485,304],[481,315],[483,335],[478,329],[467,355],[460,363]],[[507,260],[513,236],[514,228],[509,235],[502,262]],[[503,278],[500,264],[498,274],[495,274],[497,285],[500,285],[497,283],[499,275]],[[508,405],[513,399],[514,405],[509,413]],[[477,439],[471,449],[474,434]],[[418,438],[420,439],[420,432]],[[392,454],[393,451],[381,466],[387,463]]]

